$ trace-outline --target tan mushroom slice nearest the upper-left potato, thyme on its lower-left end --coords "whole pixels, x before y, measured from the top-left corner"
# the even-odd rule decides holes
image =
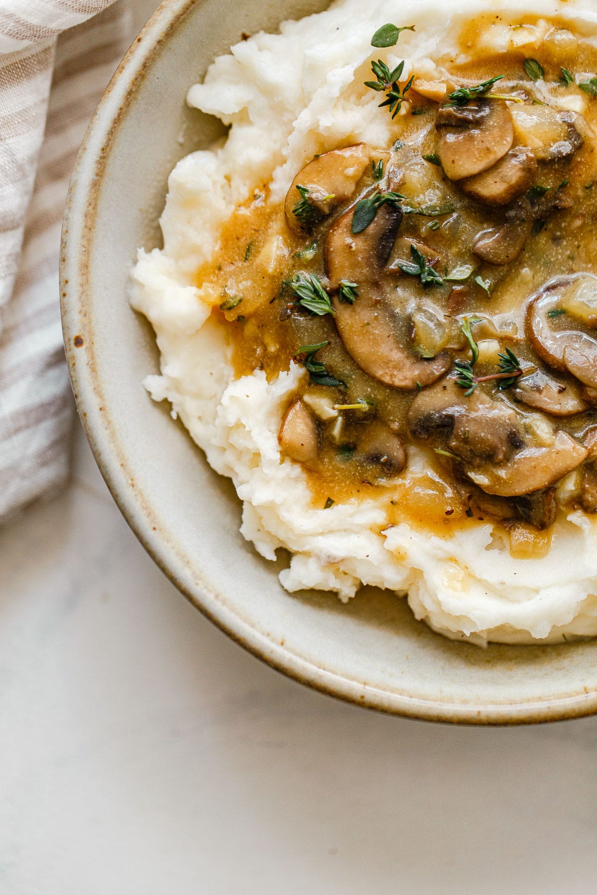
[[[305,165],[294,177],[286,193],[284,211],[290,229],[295,234],[302,234],[310,229],[308,222],[294,214],[293,209],[302,200],[298,186],[309,191],[306,200],[315,209],[312,221],[317,223],[341,202],[351,198],[370,158],[369,147],[365,143],[357,143],[345,149],[324,152]]]

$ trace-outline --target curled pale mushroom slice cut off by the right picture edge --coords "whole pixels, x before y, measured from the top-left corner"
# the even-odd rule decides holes
[[[597,308],[597,277],[574,274],[550,280],[529,303],[527,336],[554,370],[570,372],[584,385],[597,388],[597,340],[584,333],[581,320],[568,311],[579,303]]]

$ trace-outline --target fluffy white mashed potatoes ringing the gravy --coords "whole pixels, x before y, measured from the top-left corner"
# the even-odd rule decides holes
[[[433,78],[434,56],[456,47],[467,20],[490,9],[482,38],[492,51],[513,45],[532,55],[559,15],[584,36],[597,34],[593,0],[339,0],[328,11],[286,21],[276,35],[260,33],[232,47],[189,90],[192,107],[231,128],[223,146],[183,158],[169,178],[161,217],[164,248],[139,252],[132,305],[155,328],[161,375],[145,385],[170,402],[209,464],[235,483],[243,501],[242,533],[260,554],[293,554],[280,574],[288,591],[320,588],[348,600],[361,584],[407,594],[416,618],[453,638],[477,644],[560,641],[597,634],[597,524],[580,511],[553,530],[545,558],[515,559],[499,526],[467,525],[447,536],[386,521],[381,498],[311,507],[303,468],[280,455],[277,432],[302,367],[268,382],[264,373],[234,379],[222,328],[209,320],[214,303],[194,285],[198,266],[217,252],[220,226],[255,184],[284,199],[297,171],[316,152],[366,141],[384,146],[392,134],[380,96],[363,87],[371,58],[405,73]],[[533,27],[509,28],[505,21]],[[416,26],[397,47],[371,47],[371,35],[392,21]],[[454,49],[456,53],[456,49]],[[424,454],[409,448],[409,467]],[[423,470],[421,470],[423,472]]]

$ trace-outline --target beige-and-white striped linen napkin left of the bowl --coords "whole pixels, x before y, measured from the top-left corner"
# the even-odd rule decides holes
[[[111,4],[0,0],[0,523],[68,476],[60,226],[85,128],[132,38],[125,0]]]

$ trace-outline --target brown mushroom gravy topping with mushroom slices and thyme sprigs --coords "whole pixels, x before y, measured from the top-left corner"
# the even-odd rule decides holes
[[[198,271],[237,376],[309,371],[278,440],[314,506],[491,518],[520,556],[597,512],[597,54],[560,44],[415,76],[391,145],[258,187]]]

